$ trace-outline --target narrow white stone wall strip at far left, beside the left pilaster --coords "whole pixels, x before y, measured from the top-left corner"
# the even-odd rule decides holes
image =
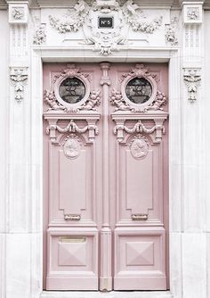
[[[6,214],[7,214],[7,197],[8,197],[8,59],[9,59],[9,24],[7,19],[7,12],[0,11],[0,126],[1,132],[1,146],[0,146],[0,296],[5,297],[5,243],[6,243]]]

